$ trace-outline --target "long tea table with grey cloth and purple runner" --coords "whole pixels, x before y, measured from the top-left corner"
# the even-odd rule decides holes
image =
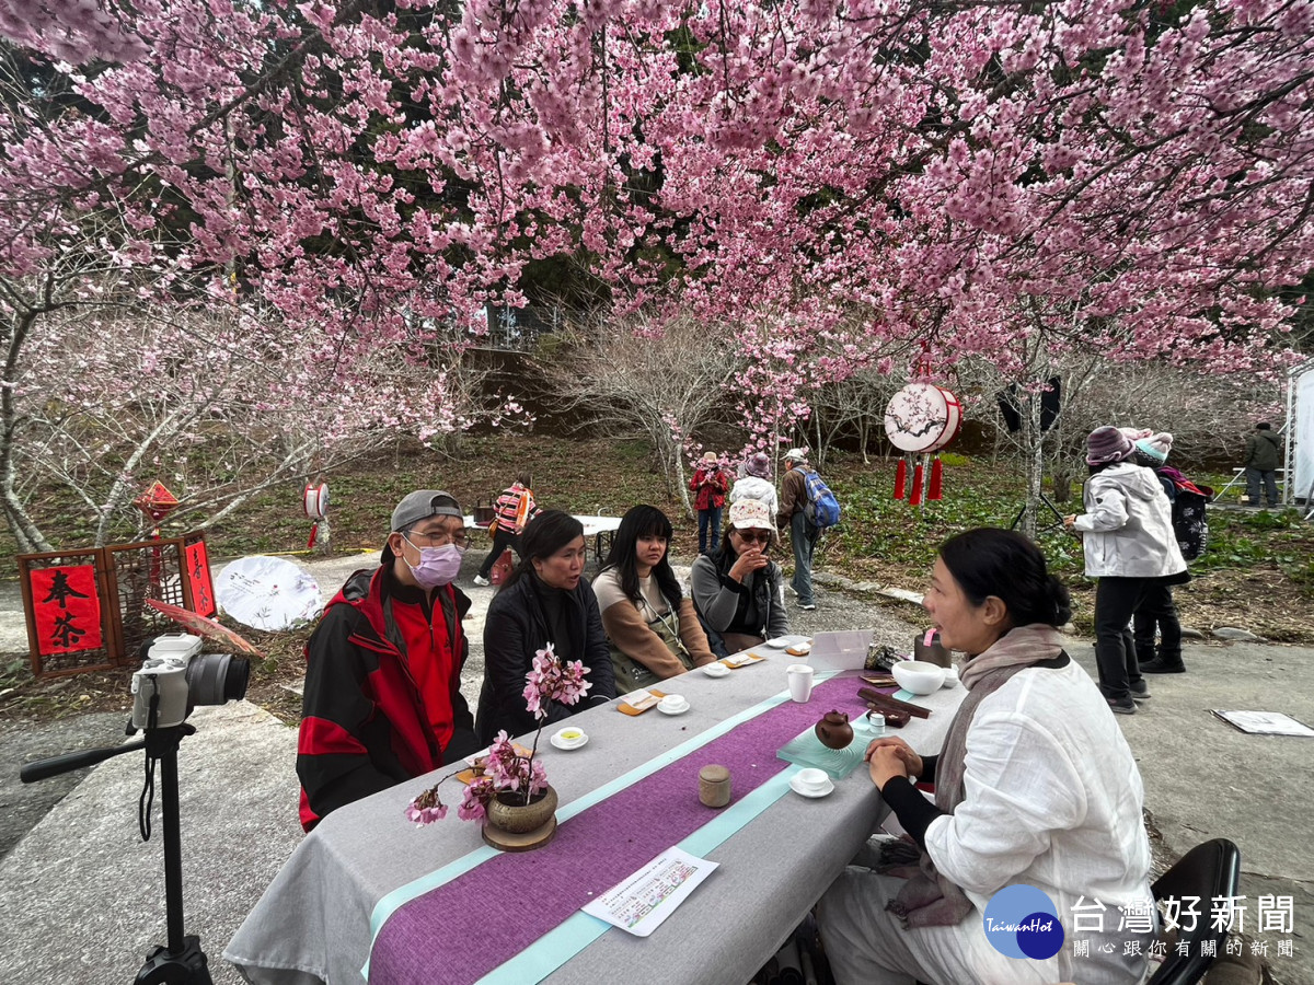
[[[694,671],[664,682],[662,691],[689,699],[683,714],[631,717],[610,704],[573,717],[587,745],[560,751],[544,737],[539,750],[560,796],[561,826],[536,851],[499,855],[485,847],[480,826],[456,817],[455,780],[443,785],[453,805],[448,817],[410,825],[403,808],[442,772],[347,805],[297,847],[223,956],[260,985],[357,984],[367,974],[372,985],[738,985],[799,925],[884,813],[862,767],[830,796],[808,800],[786,785],[799,767],[777,758],[832,708],[861,712],[855,672],[869,637],[817,636],[809,662],[819,679],[833,676],[805,705],[790,703],[786,691],[784,668],[796,658],[757,647],[766,659],[728,676]],[[955,684],[915,699],[932,714],[899,734],[920,753],[938,751],[963,695]],[[698,770],[708,762],[733,763],[735,796],[723,812],[698,804]],[[662,842],[681,823],[696,830],[687,841],[681,829]],[[719,868],[652,936],[578,913],[675,843]]]

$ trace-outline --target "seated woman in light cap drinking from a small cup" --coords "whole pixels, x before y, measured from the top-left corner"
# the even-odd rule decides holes
[[[790,632],[781,596],[781,566],[769,557],[777,544],[779,537],[766,504],[741,499],[731,507],[720,550],[694,562],[694,609],[717,657]]]

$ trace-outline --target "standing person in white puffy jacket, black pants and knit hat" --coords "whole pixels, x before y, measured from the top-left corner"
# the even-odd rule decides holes
[[[1135,445],[1116,427],[1101,427],[1087,437],[1085,461],[1091,478],[1081,498],[1085,512],[1067,516],[1070,531],[1080,532],[1087,578],[1099,578],[1095,590],[1095,659],[1100,691],[1120,714],[1137,711],[1150,697],[1141,676],[1131,613],[1156,583],[1184,580],[1187,562],[1172,529],[1172,504],[1159,478],[1135,465]]]

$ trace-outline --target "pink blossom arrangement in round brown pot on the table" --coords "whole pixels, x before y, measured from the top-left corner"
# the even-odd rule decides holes
[[[539,722],[533,746],[526,753],[506,732],[498,733],[482,762],[482,772],[465,784],[456,814],[463,821],[484,821],[484,838],[503,848],[533,848],[547,844],[556,830],[557,793],[548,784],[539,760],[539,739],[553,701],[573,705],[591,687],[581,661],[562,661],[547,647],[535,653],[533,667],[524,675],[524,700]],[[406,805],[406,818],[431,825],[447,817],[439,787],[457,774],[448,774]],[[545,829],[545,830],[544,830]]]

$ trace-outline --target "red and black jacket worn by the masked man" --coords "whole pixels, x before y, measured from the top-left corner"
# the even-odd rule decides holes
[[[469,655],[461,619],[469,608],[455,584],[435,590],[431,607],[424,592],[398,584],[386,565],[356,571],[328,603],[306,644],[297,741],[307,831],[343,804],[443,766],[453,738],[473,750],[474,720],[461,696]],[[424,630],[435,647],[414,651],[406,640],[423,638]],[[449,708],[426,708],[413,667],[448,658],[451,666],[440,670],[451,680]],[[435,732],[431,720],[444,718],[451,724]]]

